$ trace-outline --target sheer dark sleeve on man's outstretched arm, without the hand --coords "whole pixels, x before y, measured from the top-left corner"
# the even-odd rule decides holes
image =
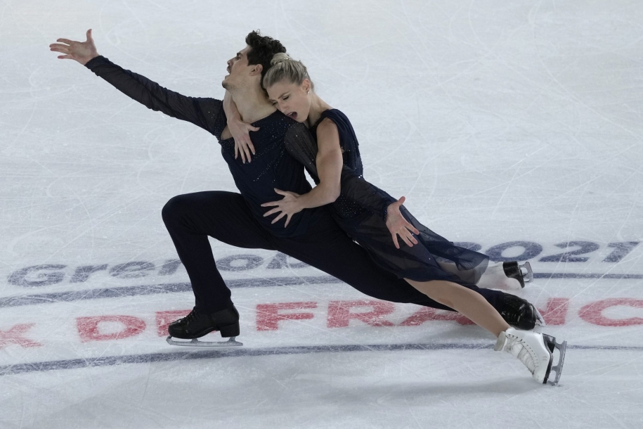
[[[217,139],[221,138],[226,120],[220,100],[183,96],[161,87],[147,77],[124,70],[103,56],[93,58],[85,66],[145,107],[192,122],[214,134]]]

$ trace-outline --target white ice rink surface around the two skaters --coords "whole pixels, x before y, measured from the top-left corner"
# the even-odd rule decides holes
[[[213,136],[48,50],[89,28],[216,98],[249,31],[280,39],[367,179],[531,262],[518,294],[569,341],[559,386],[454,314],[214,240],[245,345],[167,345],[193,294],[161,208],[235,188]],[[0,428],[643,427],[640,1],[2,0],[0,34]]]

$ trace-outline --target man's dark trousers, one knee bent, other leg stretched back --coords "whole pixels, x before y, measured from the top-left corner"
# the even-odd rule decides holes
[[[278,250],[379,300],[450,310],[379,268],[363,248],[339,229],[326,210],[319,222],[294,238],[278,238],[261,227],[238,193],[207,191],[176,196],[163,207],[162,215],[178,257],[188,271],[196,307],[204,312],[216,312],[231,303],[230,289],[216,268],[207,236],[238,248]],[[467,287],[502,310],[504,293]]]

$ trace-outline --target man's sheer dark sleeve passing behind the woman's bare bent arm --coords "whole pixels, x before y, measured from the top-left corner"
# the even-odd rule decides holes
[[[308,130],[299,127],[292,127],[286,134],[285,146],[293,158],[306,167],[308,174],[313,177],[316,184],[319,184],[317,174],[317,143]],[[384,220],[387,218],[387,207],[397,200],[388,193],[377,188],[377,186],[365,181],[363,177],[356,174],[353,169],[342,167],[342,196],[349,198],[361,207],[379,214]]]

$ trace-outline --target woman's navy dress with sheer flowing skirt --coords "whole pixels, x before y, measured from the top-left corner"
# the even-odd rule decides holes
[[[344,150],[342,190],[339,198],[329,205],[335,222],[365,248],[370,257],[398,278],[415,281],[447,280],[460,284],[475,284],[486,270],[489,258],[473,250],[462,248],[439,236],[413,217],[401,206],[403,217],[420,231],[415,235],[417,245],[412,247],[399,240],[397,249],[386,225],[387,207],[396,201],[388,193],[363,178],[363,166],[358,141],[348,117],[337,109],[325,110],[311,127],[317,136],[318,124],[325,118],[337,125],[339,144]],[[319,177],[315,159],[317,143],[286,139],[286,147],[311,174],[316,184]]]

